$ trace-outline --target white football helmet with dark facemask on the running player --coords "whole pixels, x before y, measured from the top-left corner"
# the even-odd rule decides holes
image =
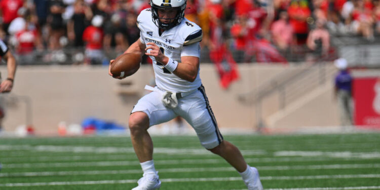
[[[152,10],[152,20],[157,25],[157,27],[168,30],[179,23],[181,23],[186,9],[187,0],[150,0],[150,6]],[[158,10],[177,10],[177,14],[174,20],[170,23],[163,23],[160,21],[158,15]],[[163,18],[161,18],[163,19]]]

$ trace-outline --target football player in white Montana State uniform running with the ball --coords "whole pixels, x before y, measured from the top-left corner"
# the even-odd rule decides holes
[[[150,56],[157,85],[145,87],[152,92],[137,102],[129,118],[132,144],[143,170],[132,190],[160,188],[147,129],[177,116],[195,129],[202,146],[236,168],[250,190],[262,189],[257,169],[247,165],[240,150],[219,132],[199,77],[202,29],[184,18],[186,0],[151,0],[150,6],[137,18],[140,38],[126,51]]]

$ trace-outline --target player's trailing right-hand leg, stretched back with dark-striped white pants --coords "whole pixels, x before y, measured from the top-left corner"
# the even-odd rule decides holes
[[[189,107],[184,106],[184,111],[178,114],[195,129],[202,146],[230,163],[241,174],[249,190],[262,189],[257,169],[247,165],[235,145],[223,140],[204,88],[201,87],[198,93],[189,97],[179,99],[180,102],[186,100],[192,102],[186,103]]]

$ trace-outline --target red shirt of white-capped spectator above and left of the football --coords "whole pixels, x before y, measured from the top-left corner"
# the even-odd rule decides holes
[[[103,46],[103,30],[100,27],[88,26],[83,32],[83,41],[86,42],[86,49],[99,50]]]

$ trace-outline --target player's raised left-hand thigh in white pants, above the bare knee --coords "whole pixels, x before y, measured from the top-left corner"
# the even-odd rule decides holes
[[[161,93],[156,91],[143,96],[133,107],[131,113],[137,111],[146,113],[149,118],[149,127],[174,119],[177,116],[176,113],[164,106],[161,97]]]

